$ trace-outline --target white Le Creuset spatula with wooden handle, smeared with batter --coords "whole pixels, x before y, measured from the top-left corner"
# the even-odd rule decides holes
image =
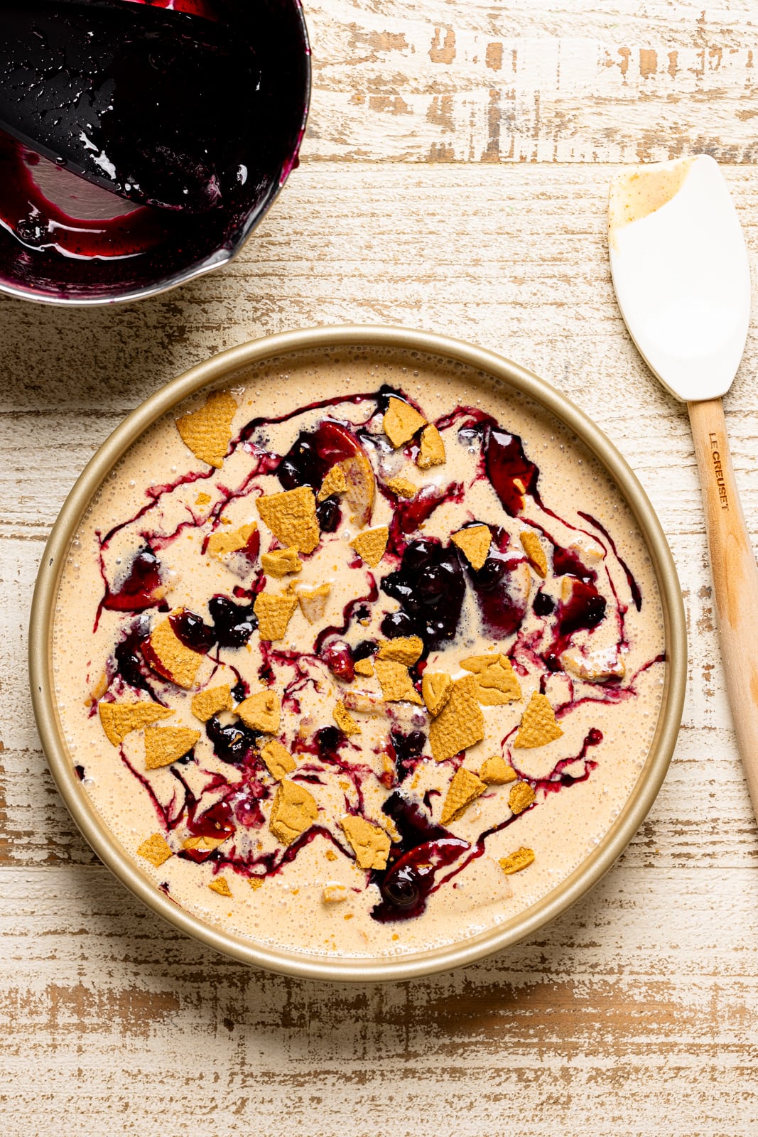
[[[758,567],[720,399],[748,334],[744,238],[726,182],[706,155],[619,174],[608,215],[610,269],[626,326],[650,370],[690,413],[726,688],[758,818]]]

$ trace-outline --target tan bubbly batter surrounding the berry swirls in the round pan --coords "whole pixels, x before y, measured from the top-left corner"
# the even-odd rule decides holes
[[[193,794],[205,795],[203,800],[208,804],[217,797],[217,791],[208,789],[214,775],[218,785],[226,787],[225,792],[230,783],[239,783],[236,798],[234,794],[230,798],[234,807],[239,807],[238,820],[244,815],[245,803],[252,816],[255,787],[251,788],[249,779],[244,780],[240,767],[214,754],[203,724],[192,714],[192,696],[219,684],[234,687],[240,679],[250,690],[259,691],[264,686],[260,669],[266,661],[274,674],[273,689],[283,692],[298,679],[299,707],[284,699],[276,737],[297,760],[298,769],[292,775],[295,782],[303,774],[317,779],[302,785],[317,803],[318,824],[334,837],[334,841],[324,836],[315,837],[299,848],[291,862],[267,875],[258,874],[261,858],[270,854],[274,861],[281,860],[284,846],[268,824],[276,782],[265,770],[258,779],[267,790],[259,803],[263,824],[248,829],[240,822],[228,844],[220,845],[203,863],[178,855],[181,825],[169,831],[161,821],[166,813],[176,815],[182,804],[182,786],[172,767],[145,770],[144,732],[133,731],[120,746],[114,746],[106,738],[97,713],[98,699],[145,697],[144,691],[130,692],[107,665],[124,629],[135,616],[102,611],[94,632],[93,626],[103,595],[98,534],[105,534],[138,514],[150,500],[145,489],[174,483],[189,471],[202,475],[163,493],[157,506],[138,521],[123,525],[111,537],[102,550],[105,578],[111,587],[117,583],[135,550],[144,543],[147,530],[153,537],[178,531],[159,553],[165,601],[173,612],[186,608],[208,621],[209,597],[215,594],[231,596],[235,586],[247,587],[260,565],[255,570],[248,566],[245,578],[245,565],[239,558],[203,554],[203,539],[211,529],[214,532],[238,532],[255,522],[260,532],[261,553],[275,545],[256,499],[260,491],[264,495],[281,492],[277,478],[273,473],[261,473],[247,485],[253,460],[250,445],[238,446],[224,458],[219,470],[197,458],[182,441],[174,422],[180,414],[205,402],[205,396],[194,399],[156,424],[103,483],[82,521],[60,584],[53,636],[56,696],[72,761],[80,767],[83,785],[98,811],[126,853],[135,857],[140,869],[174,901],[213,924],[268,946],[335,956],[388,956],[449,944],[510,919],[555,888],[608,831],[634,787],[658,720],[665,664],[658,662],[647,670],[640,669],[664,650],[660,603],[642,538],[608,476],[576,440],[525,398],[501,390],[491,379],[461,366],[443,365],[420,356],[414,363],[415,366],[409,367],[407,357],[402,362],[398,357],[395,362],[388,352],[334,351],[298,359],[288,357],[281,365],[269,363],[249,370],[227,388],[238,405],[232,423],[233,437],[253,417],[274,418],[314,400],[375,392],[384,383],[416,400],[430,422],[459,405],[486,412],[502,428],[520,435],[527,457],[541,471],[539,490],[543,506],[561,520],[548,515],[530,495],[519,515],[509,517],[489,481],[477,480],[480,449],[470,438],[459,439],[457,432],[461,423],[458,422],[442,430],[443,465],[422,470],[413,456],[403,455],[402,449],[386,445],[383,449],[366,447],[381,482],[401,476],[418,487],[433,485],[440,491],[452,482],[465,488],[463,500],[448,500],[438,506],[424,523],[423,534],[409,533],[408,539],[424,536],[447,543],[452,532],[475,518],[503,526],[510,534],[510,548],[520,553],[520,534],[530,530],[539,534],[543,526],[557,545],[576,546],[585,563],[597,567],[597,588],[608,601],[606,619],[594,630],[578,631],[573,638],[569,650],[576,655],[574,670],[553,673],[547,672],[526,646],[530,640],[539,642],[544,626],[531,605],[540,587],[544,595],[559,603],[565,575],[555,576],[549,565],[543,583],[523,558],[523,565],[514,573],[513,587],[523,589],[530,606],[518,645],[515,636],[497,640],[483,630],[474,595],[467,586],[458,636],[430,653],[427,671],[447,672],[457,680],[467,674],[460,665],[461,659],[486,653],[513,656],[522,697],[507,705],[482,708],[484,739],[466,750],[463,766],[477,773],[488,757],[502,755],[516,771],[518,782],[535,789],[536,800],[513,824],[488,837],[483,855],[441,883],[428,896],[420,915],[391,922],[372,918],[372,910],[381,899],[380,888],[369,882],[368,870],[358,868],[345,841],[341,819],[350,810],[358,808],[363,795],[363,816],[383,827],[390,837],[398,836],[382,812],[382,804],[397,786],[392,783],[393,763],[388,760],[390,730],[428,733],[430,714],[423,704],[383,705],[376,677],[356,675],[353,681],[345,683],[320,659],[302,654],[313,652],[314,637],[322,628],[342,622],[343,608],[349,601],[368,596],[373,580],[381,582],[383,575],[398,566],[395,561],[385,559],[374,570],[356,556],[349,542],[365,526],[352,524],[347,509],[342,509],[339,530],[323,534],[313,554],[301,555],[298,587],[317,588],[327,583],[331,588],[324,615],[316,624],[310,624],[298,607],[284,639],[270,647],[261,648],[259,634],[253,632],[244,647],[214,648],[202,656],[190,690],[156,674],[151,679],[153,690],[173,712],[169,724],[200,735],[193,758],[180,767],[184,783]],[[331,408],[331,414],[357,425],[366,421],[372,408],[368,400],[344,402]],[[309,410],[286,423],[269,425],[253,435],[252,449],[257,446],[256,453],[266,450],[282,455],[301,431],[315,428],[328,413],[330,408]],[[381,415],[372,420],[368,429],[378,440]],[[234,496],[242,485],[247,485],[245,492]],[[230,493],[228,504],[219,507],[222,498],[226,500]],[[370,526],[389,525],[393,509],[393,503],[377,492]],[[578,517],[580,509],[597,518],[613,537],[618,556],[639,584],[640,612],[632,603],[627,578],[608,541]],[[266,589],[280,595],[292,579],[269,578]],[[626,608],[625,644],[620,652],[624,675],[611,684],[622,691],[622,697],[608,703],[599,702],[607,686],[592,681],[592,677],[590,681],[582,679],[576,673],[576,664],[578,661],[581,670],[585,661],[586,671],[588,659],[595,670],[598,661],[603,666],[617,663],[619,626],[614,591],[618,605]],[[388,612],[398,608],[398,603],[380,590],[378,599],[367,607],[361,616],[364,622],[353,620],[340,639],[351,646],[368,639],[384,639],[378,625]],[[141,619],[155,626],[165,614],[153,607]],[[563,735],[543,746],[515,748],[513,744],[525,707],[532,692],[540,690],[541,680],[542,692],[553,708],[570,704],[567,711],[559,712]],[[340,755],[357,767],[355,777],[319,763],[313,753],[316,732],[334,727],[333,711],[338,700],[348,704],[350,714],[360,725],[360,735],[350,736],[340,748]],[[382,712],[363,713],[361,706],[369,703],[380,704]],[[218,721],[233,724],[235,714],[222,711]],[[586,749],[586,757],[597,763],[589,777],[561,786],[558,792],[545,792],[539,780],[550,777],[561,760],[580,755],[592,729],[602,732],[602,741]],[[265,741],[263,738],[261,745]],[[419,807],[426,808],[431,822],[439,823],[459,760],[435,762],[428,744],[424,754],[427,757],[416,765],[402,788]],[[586,764],[577,760],[561,772],[581,778],[586,773]],[[455,837],[475,845],[482,832],[511,816],[508,800],[513,785],[488,785],[486,791],[445,828]],[[136,850],[151,835],[161,832],[174,855],[153,868],[143,856],[138,857]],[[255,862],[258,868],[236,871],[234,857],[224,860],[225,849],[232,845],[238,863],[244,861],[252,865]],[[506,874],[499,862],[520,848],[533,850],[533,863]],[[449,872],[445,869],[435,879]],[[255,887],[250,882],[251,873]],[[226,881],[231,896],[209,888],[219,877]],[[330,890],[331,895],[336,893],[342,897],[338,886],[347,889],[347,898],[325,899]]]

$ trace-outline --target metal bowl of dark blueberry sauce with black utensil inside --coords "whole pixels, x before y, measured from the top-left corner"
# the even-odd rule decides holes
[[[298,165],[300,0],[6,0],[0,291],[94,305],[228,262]]]

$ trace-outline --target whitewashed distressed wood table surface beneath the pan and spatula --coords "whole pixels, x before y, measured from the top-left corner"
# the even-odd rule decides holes
[[[311,0],[302,164],[235,264],[116,310],[0,302],[6,1137],[758,1131],[758,837],[692,443],[605,246],[617,164],[705,150],[758,280],[758,13],[705,3]],[[578,402],[659,513],[691,652],[670,773],[601,885],[466,971],[358,988],[247,971],[135,902],[58,798],[26,680],[43,541],[126,412],[222,348],[348,321],[470,339]],[[726,399],[753,534],[757,347],[753,322]]]

